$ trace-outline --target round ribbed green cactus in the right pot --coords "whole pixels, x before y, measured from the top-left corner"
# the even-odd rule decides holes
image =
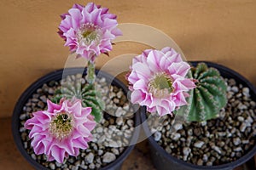
[[[218,116],[226,103],[227,85],[219,72],[208,68],[205,63],[191,68],[196,88],[189,93],[189,112],[187,121],[207,121]]]

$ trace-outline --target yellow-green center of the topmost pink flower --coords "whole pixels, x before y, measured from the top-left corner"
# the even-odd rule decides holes
[[[79,28],[77,37],[79,42],[84,42],[86,45],[90,45],[91,42],[98,44],[102,39],[102,31],[99,26],[87,23]]]

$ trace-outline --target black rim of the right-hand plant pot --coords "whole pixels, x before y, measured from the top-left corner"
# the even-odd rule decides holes
[[[254,101],[256,101],[256,88],[253,86],[253,84],[251,82],[249,82],[245,77],[242,77],[239,73],[237,73],[236,71],[231,70],[230,68],[224,66],[224,65],[218,65],[216,63],[213,62],[209,62],[209,61],[188,61],[189,63],[191,63],[192,65],[196,65],[198,63],[206,63],[209,67],[214,67],[216,68],[220,74],[224,77],[224,78],[233,78],[236,80],[236,83],[241,83],[244,86],[246,86],[247,88],[250,88],[250,94],[251,97]],[[252,95],[253,94],[253,95]],[[154,147],[155,150],[160,150],[160,154],[162,154],[168,161],[174,161],[180,164],[183,164],[183,166],[185,167],[190,167],[190,168],[195,168],[195,169],[227,169],[227,168],[234,168],[234,167],[238,167],[241,164],[245,163],[246,161],[248,161],[250,158],[252,158],[255,153],[256,153],[256,143],[254,144],[252,150],[249,150],[247,152],[247,154],[241,156],[239,159],[237,159],[236,161],[231,161],[229,163],[225,163],[222,165],[217,165],[217,166],[199,166],[199,165],[195,165],[183,160],[179,160],[177,157],[172,156],[171,154],[168,154],[166,152],[166,150],[164,150],[159,144],[157,144],[157,142],[155,142],[154,138],[152,135],[150,135],[150,131],[148,128],[147,123],[144,123],[144,121],[146,120],[146,116],[145,116],[145,112],[146,112],[146,107],[143,106],[143,109],[141,110],[141,122],[143,124],[143,130],[144,132],[147,134],[148,137],[148,141],[149,143]]]

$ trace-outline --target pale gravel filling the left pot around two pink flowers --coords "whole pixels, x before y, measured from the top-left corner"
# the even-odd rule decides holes
[[[106,108],[102,121],[92,131],[94,139],[89,143],[89,148],[80,150],[77,157],[69,156],[62,164],[56,161],[47,161],[45,155],[34,154],[30,144],[31,140],[28,138],[29,131],[25,129],[24,122],[32,116],[32,112],[46,109],[47,99],[52,99],[55,90],[61,88],[61,83],[74,81],[81,77],[81,75],[73,75],[61,81],[45,83],[28,99],[20,113],[20,137],[24,148],[32,156],[32,159],[49,169],[74,170],[105,167],[118,159],[130,143],[135,124],[133,108],[129,105],[122,89],[109,85],[103,77],[96,79],[96,90],[102,93],[102,100]],[[82,77],[80,81],[85,83],[85,78]]]

